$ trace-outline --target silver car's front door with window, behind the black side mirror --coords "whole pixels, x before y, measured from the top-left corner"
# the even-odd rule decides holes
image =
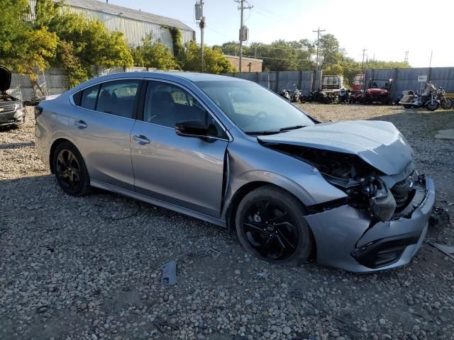
[[[217,140],[182,137],[175,123],[203,120]],[[143,120],[131,132],[131,157],[138,193],[219,217],[228,138],[213,116],[186,89],[149,81]]]

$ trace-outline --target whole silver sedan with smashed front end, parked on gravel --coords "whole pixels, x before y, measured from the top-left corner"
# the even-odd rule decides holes
[[[435,200],[392,123],[321,123],[241,79],[110,74],[35,116],[40,157],[66,193],[103,188],[197,217],[273,263],[402,266]]]

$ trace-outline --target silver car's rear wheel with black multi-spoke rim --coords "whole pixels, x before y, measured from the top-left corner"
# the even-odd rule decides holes
[[[52,166],[57,183],[71,196],[83,196],[90,191],[90,178],[84,159],[77,147],[62,142],[55,148]]]

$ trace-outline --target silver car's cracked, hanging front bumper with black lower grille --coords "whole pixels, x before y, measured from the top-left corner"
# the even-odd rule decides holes
[[[431,179],[421,180],[408,215],[372,222],[370,214],[349,205],[306,216],[314,233],[317,262],[353,272],[373,272],[403,266],[416,254],[426,236],[435,203]]]

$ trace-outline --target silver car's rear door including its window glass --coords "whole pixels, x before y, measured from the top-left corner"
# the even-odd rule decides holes
[[[130,135],[142,79],[121,79],[91,86],[74,95],[79,106],[70,117],[90,178],[134,190]]]

